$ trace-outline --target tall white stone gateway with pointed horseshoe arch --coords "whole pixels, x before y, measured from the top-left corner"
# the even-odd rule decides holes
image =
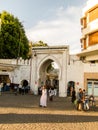
[[[53,84],[54,79],[58,81],[59,96],[67,96],[68,57],[69,46],[34,47],[32,49],[30,84],[35,94],[38,94],[38,87],[45,84],[46,80],[50,78],[51,84]],[[56,75],[47,74],[46,70],[51,62],[58,65]]]

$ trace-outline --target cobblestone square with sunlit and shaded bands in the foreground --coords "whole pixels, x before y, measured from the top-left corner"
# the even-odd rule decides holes
[[[2,94],[0,130],[98,130],[98,106],[77,111],[70,98],[54,97],[47,108],[39,96]]]

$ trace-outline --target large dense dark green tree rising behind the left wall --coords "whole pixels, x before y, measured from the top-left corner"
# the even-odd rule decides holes
[[[0,58],[28,58],[29,42],[18,18],[3,11],[0,13]]]

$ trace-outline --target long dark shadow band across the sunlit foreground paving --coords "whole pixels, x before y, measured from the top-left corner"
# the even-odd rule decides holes
[[[0,114],[0,124],[96,122],[97,116],[57,114]]]

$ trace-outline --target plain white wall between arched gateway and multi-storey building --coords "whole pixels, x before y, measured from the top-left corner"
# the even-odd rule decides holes
[[[84,64],[75,55],[70,56],[70,64],[67,67],[67,82],[69,81],[79,82],[79,87],[84,87]]]

